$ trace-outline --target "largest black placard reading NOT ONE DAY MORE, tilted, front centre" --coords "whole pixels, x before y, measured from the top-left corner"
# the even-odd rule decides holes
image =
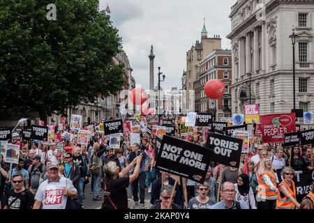
[[[165,135],[155,167],[160,171],[204,183],[212,153],[208,148]]]

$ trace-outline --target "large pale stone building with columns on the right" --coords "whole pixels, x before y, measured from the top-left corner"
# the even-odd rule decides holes
[[[291,112],[292,29],[298,36],[296,109],[314,110],[313,18],[313,0],[239,0],[232,6],[227,36],[232,44],[232,113],[243,113],[250,98],[260,105],[260,114]]]

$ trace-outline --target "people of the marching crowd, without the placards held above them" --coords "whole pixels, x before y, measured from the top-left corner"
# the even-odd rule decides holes
[[[61,130],[56,130],[58,133]],[[127,187],[134,208],[145,208],[146,193],[151,195],[154,209],[313,208],[313,185],[299,203],[293,180],[295,171],[313,171],[311,145],[290,150],[279,144],[262,144],[255,137],[250,151],[241,155],[239,169],[211,162],[200,184],[158,171],[156,135],[145,131],[140,136],[139,144],[130,145],[129,134],[121,134],[120,148],[110,146],[109,137],[99,132],[87,146],[77,144],[77,138],[63,139],[62,154],[57,153],[54,143],[43,145],[20,137],[11,141],[20,145],[20,159],[11,168],[1,159],[1,208],[84,208],[87,183],[91,183],[93,200],[103,201],[102,209],[129,208]],[[206,144],[203,132],[183,137],[176,128],[175,137]],[[277,172],[283,179],[279,184]],[[175,183],[176,177],[179,183]]]

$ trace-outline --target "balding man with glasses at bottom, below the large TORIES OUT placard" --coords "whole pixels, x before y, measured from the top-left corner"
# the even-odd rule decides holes
[[[223,183],[220,190],[221,201],[210,206],[210,209],[248,209],[246,203],[234,200],[235,195],[234,184],[231,182]]]

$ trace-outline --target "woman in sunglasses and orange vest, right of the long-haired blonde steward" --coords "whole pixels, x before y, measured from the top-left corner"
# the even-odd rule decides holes
[[[300,204],[297,202],[294,181],[294,169],[285,167],[281,171],[283,181],[279,184],[278,198],[276,202],[276,209],[295,209],[299,208]]]

